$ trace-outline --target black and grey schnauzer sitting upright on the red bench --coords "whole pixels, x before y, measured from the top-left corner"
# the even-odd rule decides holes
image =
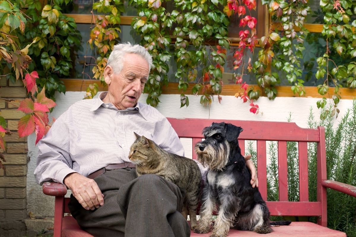
[[[269,233],[270,225],[289,225],[290,221],[269,222],[269,210],[258,188],[250,184],[237,138],[242,128],[229,123],[213,123],[203,129],[205,140],[194,146],[197,160],[209,171],[205,180],[200,221],[195,233],[208,233],[214,211],[218,215],[211,237],[225,237],[230,227]]]

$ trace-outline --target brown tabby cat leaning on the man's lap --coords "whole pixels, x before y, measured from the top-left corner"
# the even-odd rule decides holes
[[[136,164],[137,175],[157,174],[185,189],[184,206],[188,208],[190,229],[197,225],[197,206],[201,173],[195,161],[161,149],[154,141],[136,135],[129,158]],[[183,213],[182,213],[183,214]],[[184,214],[183,214],[184,216]]]

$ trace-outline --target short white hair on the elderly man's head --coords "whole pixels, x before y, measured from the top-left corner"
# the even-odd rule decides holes
[[[124,66],[126,54],[140,55],[148,63],[148,72],[151,71],[152,56],[141,45],[132,45],[130,42],[127,42],[114,45],[114,49],[109,56],[107,65],[111,66],[115,74],[119,74],[121,72],[122,67]]]

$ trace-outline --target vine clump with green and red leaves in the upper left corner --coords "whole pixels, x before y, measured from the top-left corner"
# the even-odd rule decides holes
[[[51,126],[47,113],[56,106],[46,96],[65,92],[59,78],[69,76],[72,57],[80,48],[81,36],[73,18],[61,14],[61,7],[69,2],[53,0],[42,6],[36,0],[0,0],[0,69],[4,74],[0,79],[22,80],[28,93],[22,100],[1,99],[14,106],[13,102],[20,103],[18,110],[25,115],[18,123],[19,137],[35,133],[36,144]],[[3,138],[11,133],[0,114],[0,147],[4,150]],[[5,161],[2,153],[0,168],[4,169],[1,161]]]

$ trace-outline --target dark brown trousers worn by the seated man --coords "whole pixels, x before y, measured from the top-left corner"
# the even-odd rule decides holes
[[[69,210],[93,236],[185,237],[188,222],[180,214],[185,192],[155,174],[137,178],[134,169],[116,169],[96,177],[104,205],[85,210],[73,195]]]

